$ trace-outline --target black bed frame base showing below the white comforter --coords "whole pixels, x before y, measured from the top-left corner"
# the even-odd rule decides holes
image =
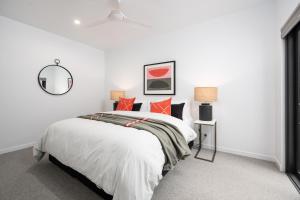
[[[188,145],[191,149],[194,145],[194,141],[190,142]],[[59,160],[57,160],[51,154],[49,154],[49,161],[52,162],[53,164],[57,165],[59,168],[61,168],[63,171],[65,171],[66,173],[68,173],[72,177],[78,179],[81,183],[83,183],[85,186],[87,186],[88,188],[93,190],[95,193],[100,195],[105,200],[112,200],[113,199],[112,195],[107,194],[106,192],[104,192],[103,189],[97,187],[97,185],[95,183],[90,181],[87,177],[85,177],[81,173],[77,172],[76,170],[72,169],[71,167],[68,167],[68,166],[62,164]],[[165,176],[167,173],[168,173],[168,171],[163,171],[162,175]]]

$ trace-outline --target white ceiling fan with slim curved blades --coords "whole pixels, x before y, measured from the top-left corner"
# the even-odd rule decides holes
[[[134,25],[141,26],[144,28],[151,27],[142,22],[128,18],[120,8],[121,0],[109,0],[109,1],[111,2],[112,9],[111,9],[110,13],[108,14],[108,16],[105,19],[100,19],[91,24],[88,24],[87,27],[92,28],[92,27],[100,26],[102,24],[112,22],[112,21],[118,21],[118,22],[127,23],[127,24],[134,24]]]

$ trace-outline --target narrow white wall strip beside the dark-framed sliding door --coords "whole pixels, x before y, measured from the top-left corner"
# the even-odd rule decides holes
[[[299,0],[277,0],[277,22],[278,28],[276,36],[278,38],[278,63],[279,68],[276,70],[277,84],[277,126],[275,141],[275,157],[281,171],[285,170],[285,58],[284,58],[284,41],[280,38],[280,29],[297,7]]]

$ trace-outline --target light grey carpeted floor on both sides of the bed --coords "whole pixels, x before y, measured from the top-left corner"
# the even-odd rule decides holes
[[[195,152],[194,152],[195,153]],[[31,149],[0,155],[1,200],[103,200]],[[214,163],[189,157],[169,172],[153,200],[300,200],[270,162],[218,152]]]

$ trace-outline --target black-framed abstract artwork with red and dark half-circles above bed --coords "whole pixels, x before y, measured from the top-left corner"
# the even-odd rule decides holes
[[[144,95],[175,95],[175,61],[144,65]]]

